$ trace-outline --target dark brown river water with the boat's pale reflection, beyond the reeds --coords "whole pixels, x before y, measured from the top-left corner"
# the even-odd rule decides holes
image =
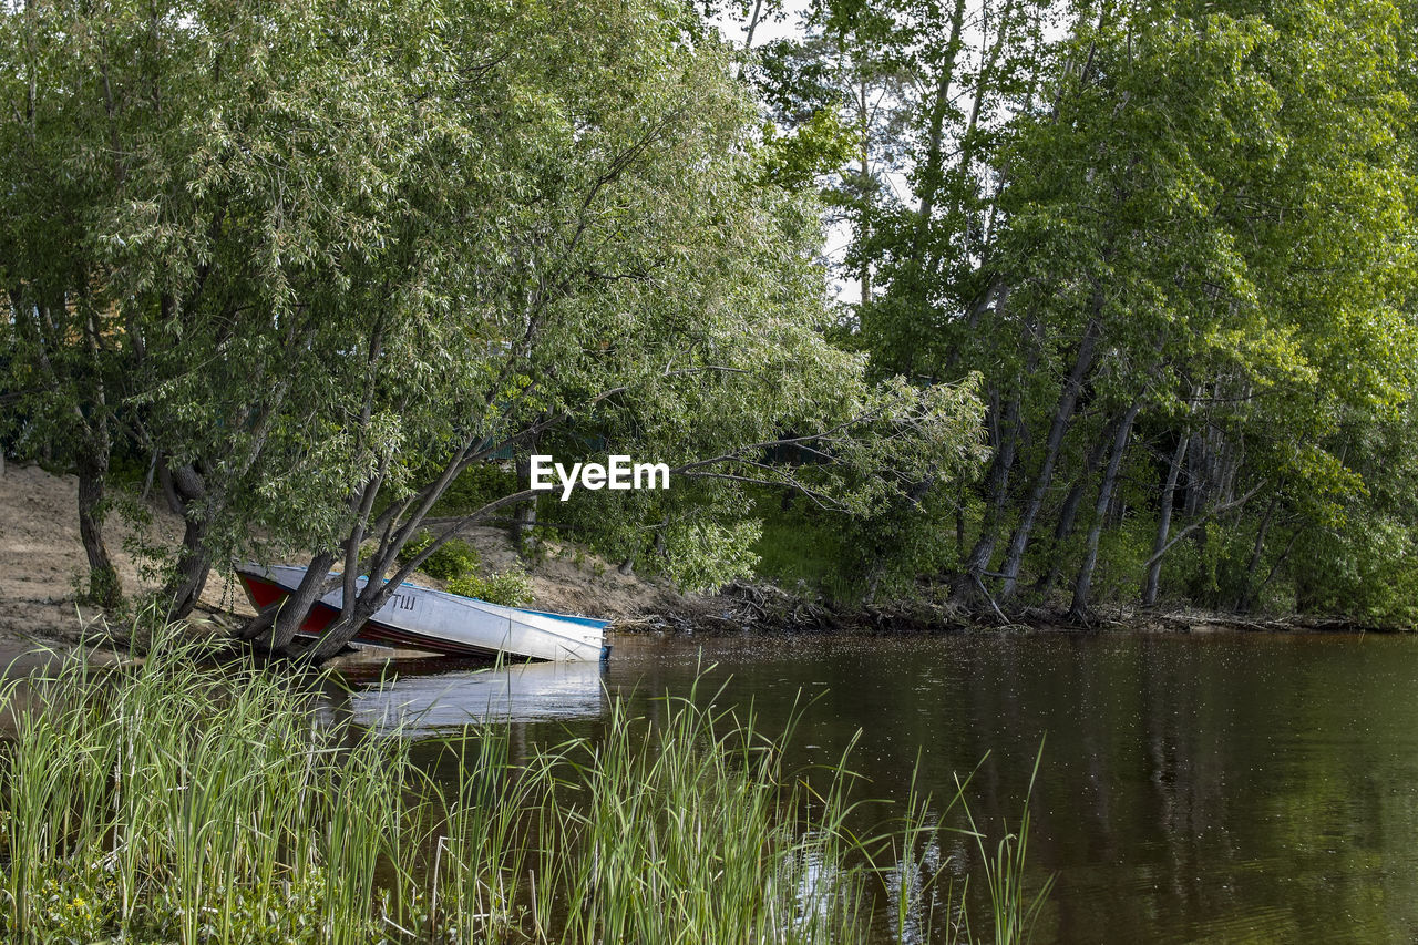
[[[550,742],[594,735],[610,698],[652,711],[699,674],[766,731],[815,697],[787,765],[835,762],[861,731],[851,766],[871,796],[903,797],[917,758],[937,796],[978,765],[967,796],[995,834],[1044,739],[1028,871],[1056,885],[1035,942],[1418,941],[1418,639],[623,637],[604,675],[407,675],[347,708],[437,726],[491,707]],[[978,851],[947,837],[978,892]]]

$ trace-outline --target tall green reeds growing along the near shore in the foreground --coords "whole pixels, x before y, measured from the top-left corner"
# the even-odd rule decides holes
[[[920,939],[906,917],[949,881],[919,868],[939,830],[925,795],[859,837],[845,761],[784,772],[791,731],[764,736],[696,692],[520,752],[505,726],[469,728],[437,778],[397,732],[322,724],[309,685],[201,656],[159,634],[140,667],[69,660],[0,690],[10,939]],[[885,854],[913,874],[893,917],[873,914]]]

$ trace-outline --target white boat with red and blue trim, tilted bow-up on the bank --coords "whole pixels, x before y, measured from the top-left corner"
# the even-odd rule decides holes
[[[261,610],[288,596],[305,579],[305,568],[242,565],[237,576],[252,606]],[[356,579],[364,587],[367,578]],[[340,612],[343,590],[320,597],[305,616],[301,633],[319,636]],[[608,620],[503,607],[444,590],[404,583],[360,627],[359,643],[455,656],[505,654],[522,660],[574,663],[604,660]]]

